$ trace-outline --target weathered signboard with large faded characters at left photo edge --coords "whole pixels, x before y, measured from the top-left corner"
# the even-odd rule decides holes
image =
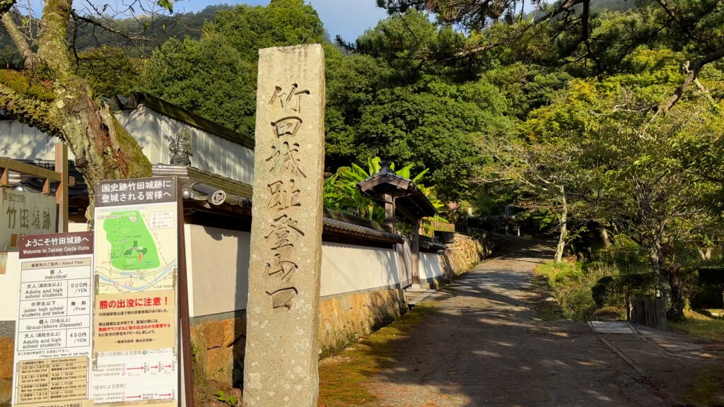
[[[0,251],[17,251],[20,235],[53,233],[57,225],[54,196],[0,188]]]

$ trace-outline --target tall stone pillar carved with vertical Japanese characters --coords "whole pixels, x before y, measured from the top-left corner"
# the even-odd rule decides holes
[[[244,405],[316,407],[324,51],[259,50]]]

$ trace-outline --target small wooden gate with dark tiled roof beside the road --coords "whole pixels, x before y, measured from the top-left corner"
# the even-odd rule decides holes
[[[403,215],[413,225],[410,242],[412,283],[419,285],[420,220],[434,216],[437,214],[437,209],[420,188],[417,188],[415,182],[397,175],[389,164],[383,164],[379,172],[358,183],[358,187],[364,195],[384,203],[384,227],[389,232],[395,233],[397,213]]]

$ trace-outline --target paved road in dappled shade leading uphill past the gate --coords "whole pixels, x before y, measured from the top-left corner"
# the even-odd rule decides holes
[[[586,324],[535,318],[531,272],[552,257],[551,245],[505,246],[505,256],[434,295],[432,315],[398,343],[395,365],[369,384],[379,405],[665,406],[647,402],[654,399],[632,379],[636,372]]]

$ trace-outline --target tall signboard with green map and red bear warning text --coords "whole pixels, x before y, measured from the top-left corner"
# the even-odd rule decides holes
[[[93,399],[178,400],[177,179],[96,185]]]

